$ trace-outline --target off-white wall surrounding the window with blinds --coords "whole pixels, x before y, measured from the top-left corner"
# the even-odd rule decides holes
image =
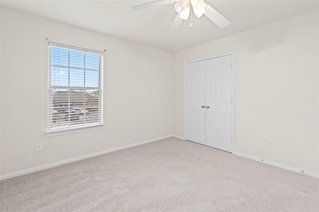
[[[45,38],[107,49],[104,130],[45,136]],[[172,133],[172,53],[1,7],[0,68],[1,175]]]

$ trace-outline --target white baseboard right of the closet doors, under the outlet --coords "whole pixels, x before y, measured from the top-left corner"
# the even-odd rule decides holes
[[[290,171],[293,171],[293,172],[297,172],[297,173],[300,173],[300,174],[304,174],[304,175],[308,175],[308,176],[311,176],[311,177],[319,178],[319,174],[316,174],[316,173],[313,173],[313,172],[305,171],[305,170],[302,170],[302,169],[298,169],[298,168],[295,168],[295,167],[283,165],[283,164],[280,164],[280,163],[275,163],[275,162],[272,162],[272,161],[269,161],[269,160],[265,160],[265,159],[262,159],[262,158],[254,157],[254,156],[251,156],[251,155],[248,155],[248,154],[244,154],[244,153],[240,153],[240,152],[236,152],[236,151],[233,152],[233,154],[241,156],[241,157],[245,157],[245,158],[248,158],[248,159],[251,159],[251,160],[256,160],[256,161],[259,161],[259,162],[262,162],[262,163],[266,163],[266,164],[269,164],[269,165],[272,165],[272,166],[276,166],[276,167],[279,167],[279,168],[287,169],[287,170],[290,170]]]

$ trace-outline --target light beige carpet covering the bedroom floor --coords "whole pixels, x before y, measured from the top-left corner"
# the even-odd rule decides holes
[[[319,179],[165,139],[0,182],[1,211],[319,211]]]

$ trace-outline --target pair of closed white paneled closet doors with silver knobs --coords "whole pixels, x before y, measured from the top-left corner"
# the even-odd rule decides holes
[[[185,66],[185,139],[231,152],[232,55]]]

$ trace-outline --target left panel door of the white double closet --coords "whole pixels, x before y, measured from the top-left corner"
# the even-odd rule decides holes
[[[205,144],[205,61],[185,66],[185,139]]]

